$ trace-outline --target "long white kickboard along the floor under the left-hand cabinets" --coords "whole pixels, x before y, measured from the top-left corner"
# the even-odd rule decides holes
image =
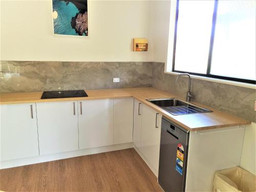
[[[23,158],[23,159],[1,161],[0,167],[1,169],[11,168],[11,167],[17,167],[17,166],[23,166],[23,165],[29,165],[29,164],[35,164],[35,163],[55,161],[59,159],[67,159],[67,158],[78,157],[83,155],[92,155],[92,154],[98,154],[98,153],[104,153],[104,152],[124,150],[125,148],[132,148],[133,146],[134,144],[132,142],[122,143],[122,144],[116,144],[116,145],[88,148],[85,150],[64,152],[59,154],[42,155],[42,156],[35,156],[35,157],[29,157],[29,158]]]

